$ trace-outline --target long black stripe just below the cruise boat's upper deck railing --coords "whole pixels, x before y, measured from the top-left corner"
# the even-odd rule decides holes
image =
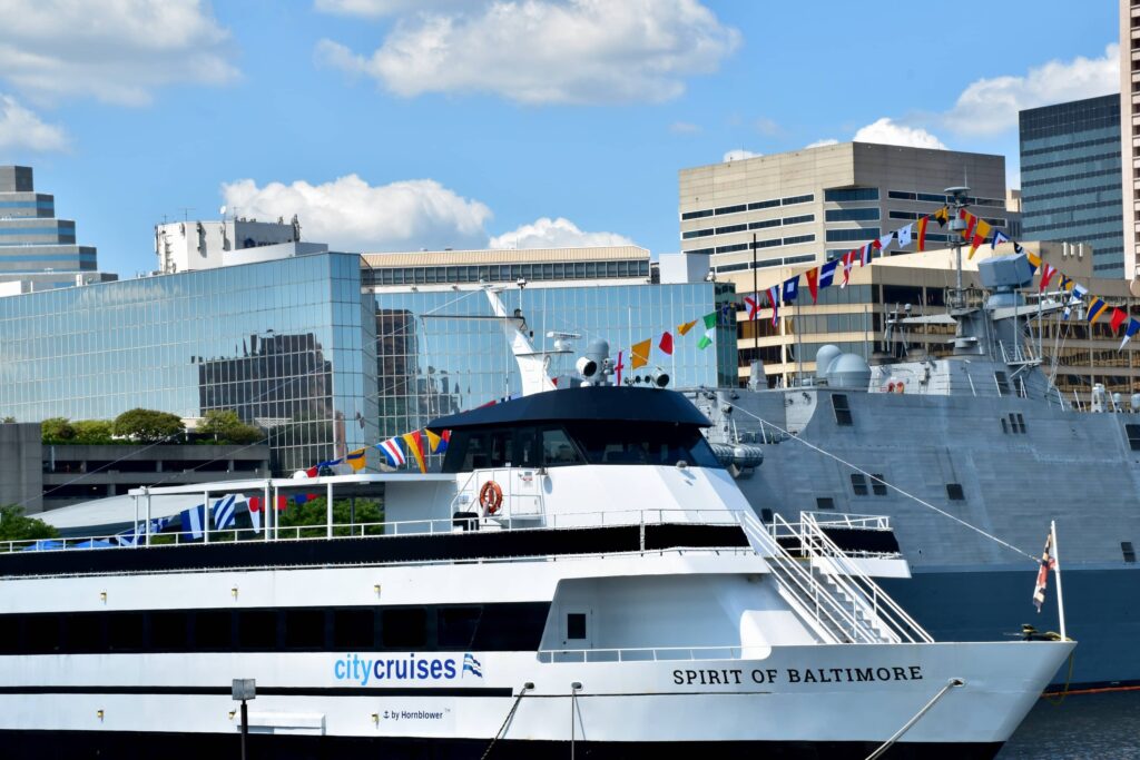
[[[738,525],[649,524],[644,548],[746,547]],[[423,536],[238,541],[196,546],[15,551],[0,555],[0,575],[139,573],[226,567],[287,567],[378,563],[455,562],[642,548],[641,526],[470,531]]]

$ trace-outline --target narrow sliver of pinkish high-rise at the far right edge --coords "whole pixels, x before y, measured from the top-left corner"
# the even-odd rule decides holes
[[[1140,275],[1140,0],[1121,0],[1121,177],[1124,276]]]

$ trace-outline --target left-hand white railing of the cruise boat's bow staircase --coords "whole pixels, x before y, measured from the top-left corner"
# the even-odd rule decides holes
[[[813,574],[811,566],[805,567],[773,538],[751,509],[738,514],[740,525],[754,550],[767,561],[783,598],[824,643],[881,644],[883,641],[879,631],[869,624],[870,621],[858,614],[858,607],[844,604],[832,594],[824,582]],[[791,525],[780,515],[775,515],[774,518],[791,530]]]

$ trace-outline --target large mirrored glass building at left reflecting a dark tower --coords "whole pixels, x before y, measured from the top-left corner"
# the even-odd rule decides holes
[[[233,409],[269,431],[277,473],[374,443],[376,309],[359,262],[321,253],[0,297],[0,415]]]

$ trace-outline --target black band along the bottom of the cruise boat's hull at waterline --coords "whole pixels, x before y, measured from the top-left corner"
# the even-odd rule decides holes
[[[171,716],[178,720],[178,716]],[[202,760],[236,758],[241,737],[220,734],[111,732],[0,732],[6,760],[117,760],[162,758]],[[405,737],[286,736],[251,734],[250,760],[479,760],[490,739]],[[717,760],[864,760],[874,742],[577,742],[575,758],[643,760],[644,758],[716,758]],[[992,760],[1001,744],[898,743],[885,760]],[[499,741],[488,760],[569,758],[569,742]]]

